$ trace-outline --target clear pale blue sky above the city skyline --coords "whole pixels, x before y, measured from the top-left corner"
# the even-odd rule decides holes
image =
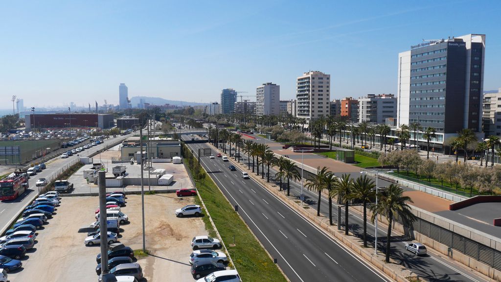
[[[501,87],[501,1],[3,1],[0,108],[212,102],[266,82],[331,75],[331,99],[396,93],[398,53],[424,40],[486,35],[484,90]]]

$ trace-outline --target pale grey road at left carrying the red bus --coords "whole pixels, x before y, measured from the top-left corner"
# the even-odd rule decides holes
[[[105,139],[105,142],[92,147],[91,149],[87,149],[82,153],[79,153],[80,156],[86,157],[89,154],[102,150],[106,148],[107,145],[110,143],[114,142],[118,138],[124,138],[128,137],[129,135],[124,135],[124,136],[117,136],[115,138],[110,137],[108,139]],[[79,144],[84,145],[84,143]],[[76,147],[70,147],[68,150],[75,149]],[[0,202],[0,229],[5,229],[10,225],[11,221],[19,212],[23,209],[23,207],[28,203],[33,201],[37,196],[38,196],[38,187],[35,185],[37,180],[39,178],[47,178],[50,179],[52,177],[55,177],[57,172],[65,167],[66,165],[70,164],[73,162],[75,159],[78,157],[76,155],[73,155],[67,159],[61,159],[59,157],[56,157],[55,159],[52,159],[51,161],[46,163],[47,168],[43,170],[42,172],[37,173],[36,175],[32,176],[29,180],[29,189],[26,189],[26,192],[18,197],[14,201],[3,201]]]

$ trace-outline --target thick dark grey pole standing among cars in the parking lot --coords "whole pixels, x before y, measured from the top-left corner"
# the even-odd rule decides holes
[[[99,171],[99,228],[101,235],[101,272],[108,273],[108,226],[106,223],[106,172]]]

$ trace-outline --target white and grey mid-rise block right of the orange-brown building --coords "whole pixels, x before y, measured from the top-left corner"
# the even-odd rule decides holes
[[[369,94],[358,99],[358,121],[384,124],[386,118],[397,117],[397,98],[393,94]]]

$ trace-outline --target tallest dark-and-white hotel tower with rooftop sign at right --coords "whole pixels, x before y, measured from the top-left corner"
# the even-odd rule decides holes
[[[484,51],[485,35],[469,34],[399,53],[397,126],[433,127],[437,142],[463,128],[480,132]]]

